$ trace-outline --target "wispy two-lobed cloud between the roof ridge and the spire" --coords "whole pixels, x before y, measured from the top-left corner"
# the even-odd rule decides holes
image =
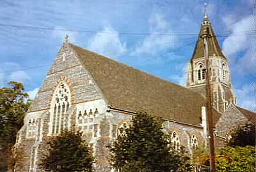
[[[141,43],[139,43],[135,50],[131,52],[135,55],[156,55],[158,52],[174,47],[177,36],[161,34],[172,32],[168,22],[164,16],[159,13],[154,13],[148,20],[150,35],[146,36]]]

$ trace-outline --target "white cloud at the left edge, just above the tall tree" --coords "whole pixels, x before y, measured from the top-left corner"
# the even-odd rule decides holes
[[[26,83],[31,80],[28,73],[19,69],[19,64],[15,62],[3,62],[0,64],[0,87],[10,81]]]

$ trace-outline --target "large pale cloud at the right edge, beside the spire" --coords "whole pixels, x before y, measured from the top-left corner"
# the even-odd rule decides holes
[[[225,20],[227,22],[227,18]],[[229,57],[230,66],[236,69],[238,75],[255,73],[255,36],[246,32],[254,30],[253,21],[253,15],[239,20],[231,28],[230,36],[223,41],[223,52]]]

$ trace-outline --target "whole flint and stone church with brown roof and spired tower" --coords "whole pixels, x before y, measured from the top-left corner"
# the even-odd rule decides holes
[[[237,125],[255,122],[255,113],[236,105],[227,57],[207,15],[186,71],[186,87],[68,43],[56,55],[24,118],[15,147],[22,152],[16,171],[41,171],[38,162],[49,136],[63,129],[83,132],[97,159],[95,171],[110,172],[108,149],[136,111],[164,119],[175,148],[189,154],[207,146],[203,30],[209,29],[209,65],[216,145]]]

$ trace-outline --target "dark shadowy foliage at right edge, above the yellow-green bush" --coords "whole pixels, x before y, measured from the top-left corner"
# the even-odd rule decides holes
[[[238,127],[231,134],[231,139],[228,141],[230,147],[245,147],[247,145],[255,147],[255,125],[246,124]]]

